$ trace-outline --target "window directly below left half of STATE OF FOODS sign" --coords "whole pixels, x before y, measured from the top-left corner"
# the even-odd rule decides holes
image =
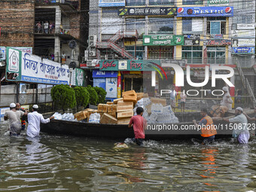
[[[136,29],[139,34],[139,39],[142,39],[145,34],[145,18],[127,18],[126,29]]]

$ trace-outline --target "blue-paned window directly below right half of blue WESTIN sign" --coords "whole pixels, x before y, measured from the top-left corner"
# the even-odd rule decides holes
[[[226,18],[225,17],[213,17],[207,18],[207,34],[226,34]]]

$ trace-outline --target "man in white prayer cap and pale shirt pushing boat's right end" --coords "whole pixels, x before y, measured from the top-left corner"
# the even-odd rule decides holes
[[[233,138],[236,138],[239,143],[248,143],[250,133],[248,132],[247,117],[243,114],[243,109],[240,107],[236,108],[235,114],[236,117],[222,119],[233,123]]]

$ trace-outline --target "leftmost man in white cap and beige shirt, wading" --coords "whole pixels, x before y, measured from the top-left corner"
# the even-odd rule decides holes
[[[9,120],[10,136],[19,136],[21,132],[20,118],[26,116],[27,112],[17,111],[16,104],[10,104],[10,111],[5,112],[5,120]]]

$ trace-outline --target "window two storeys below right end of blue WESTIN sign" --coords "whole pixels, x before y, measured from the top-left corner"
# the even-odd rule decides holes
[[[207,47],[207,61],[209,64],[224,64],[226,47]]]

